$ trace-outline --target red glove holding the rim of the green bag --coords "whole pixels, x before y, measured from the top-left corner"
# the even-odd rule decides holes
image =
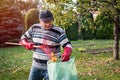
[[[65,47],[64,52],[62,54],[62,62],[69,61],[72,53],[72,49],[70,47]]]

